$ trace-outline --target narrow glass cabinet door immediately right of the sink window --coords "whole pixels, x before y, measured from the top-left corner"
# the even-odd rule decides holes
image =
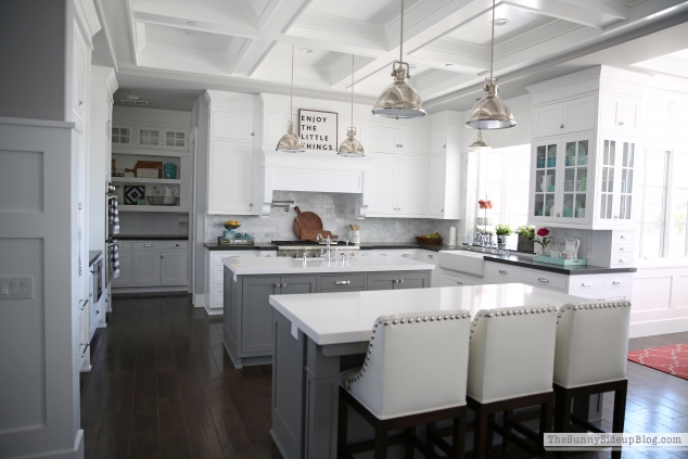
[[[536,219],[555,218],[558,148],[556,141],[536,145],[535,181],[531,183],[535,203],[533,217]]]

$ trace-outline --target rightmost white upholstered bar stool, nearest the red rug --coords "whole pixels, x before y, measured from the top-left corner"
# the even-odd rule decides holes
[[[629,302],[591,302],[562,306],[558,311],[555,354],[555,431],[569,432],[571,422],[603,431],[571,413],[573,398],[614,393],[612,431],[624,431]],[[563,454],[561,456],[564,456]],[[612,450],[621,458],[621,450]]]

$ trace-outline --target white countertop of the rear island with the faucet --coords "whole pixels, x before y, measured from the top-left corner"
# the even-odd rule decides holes
[[[303,275],[327,272],[384,272],[424,271],[435,269],[434,265],[402,257],[361,257],[351,262],[327,262],[321,258],[222,258],[222,263],[234,276],[251,275]]]

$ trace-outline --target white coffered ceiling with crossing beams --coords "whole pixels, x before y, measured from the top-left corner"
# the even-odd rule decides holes
[[[356,91],[372,100],[399,56],[400,0],[95,1],[118,76],[284,93],[294,46],[296,93],[343,98],[354,54]],[[687,3],[500,0],[495,74],[508,79],[565,53],[611,47],[623,34],[685,14]],[[492,0],[405,1],[404,59],[429,105],[480,88],[489,72],[490,8]]]

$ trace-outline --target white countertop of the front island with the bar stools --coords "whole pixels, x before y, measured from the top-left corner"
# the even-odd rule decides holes
[[[464,309],[474,317],[483,309],[585,301],[523,283],[270,296],[275,309],[320,345],[369,341],[381,316]]]

